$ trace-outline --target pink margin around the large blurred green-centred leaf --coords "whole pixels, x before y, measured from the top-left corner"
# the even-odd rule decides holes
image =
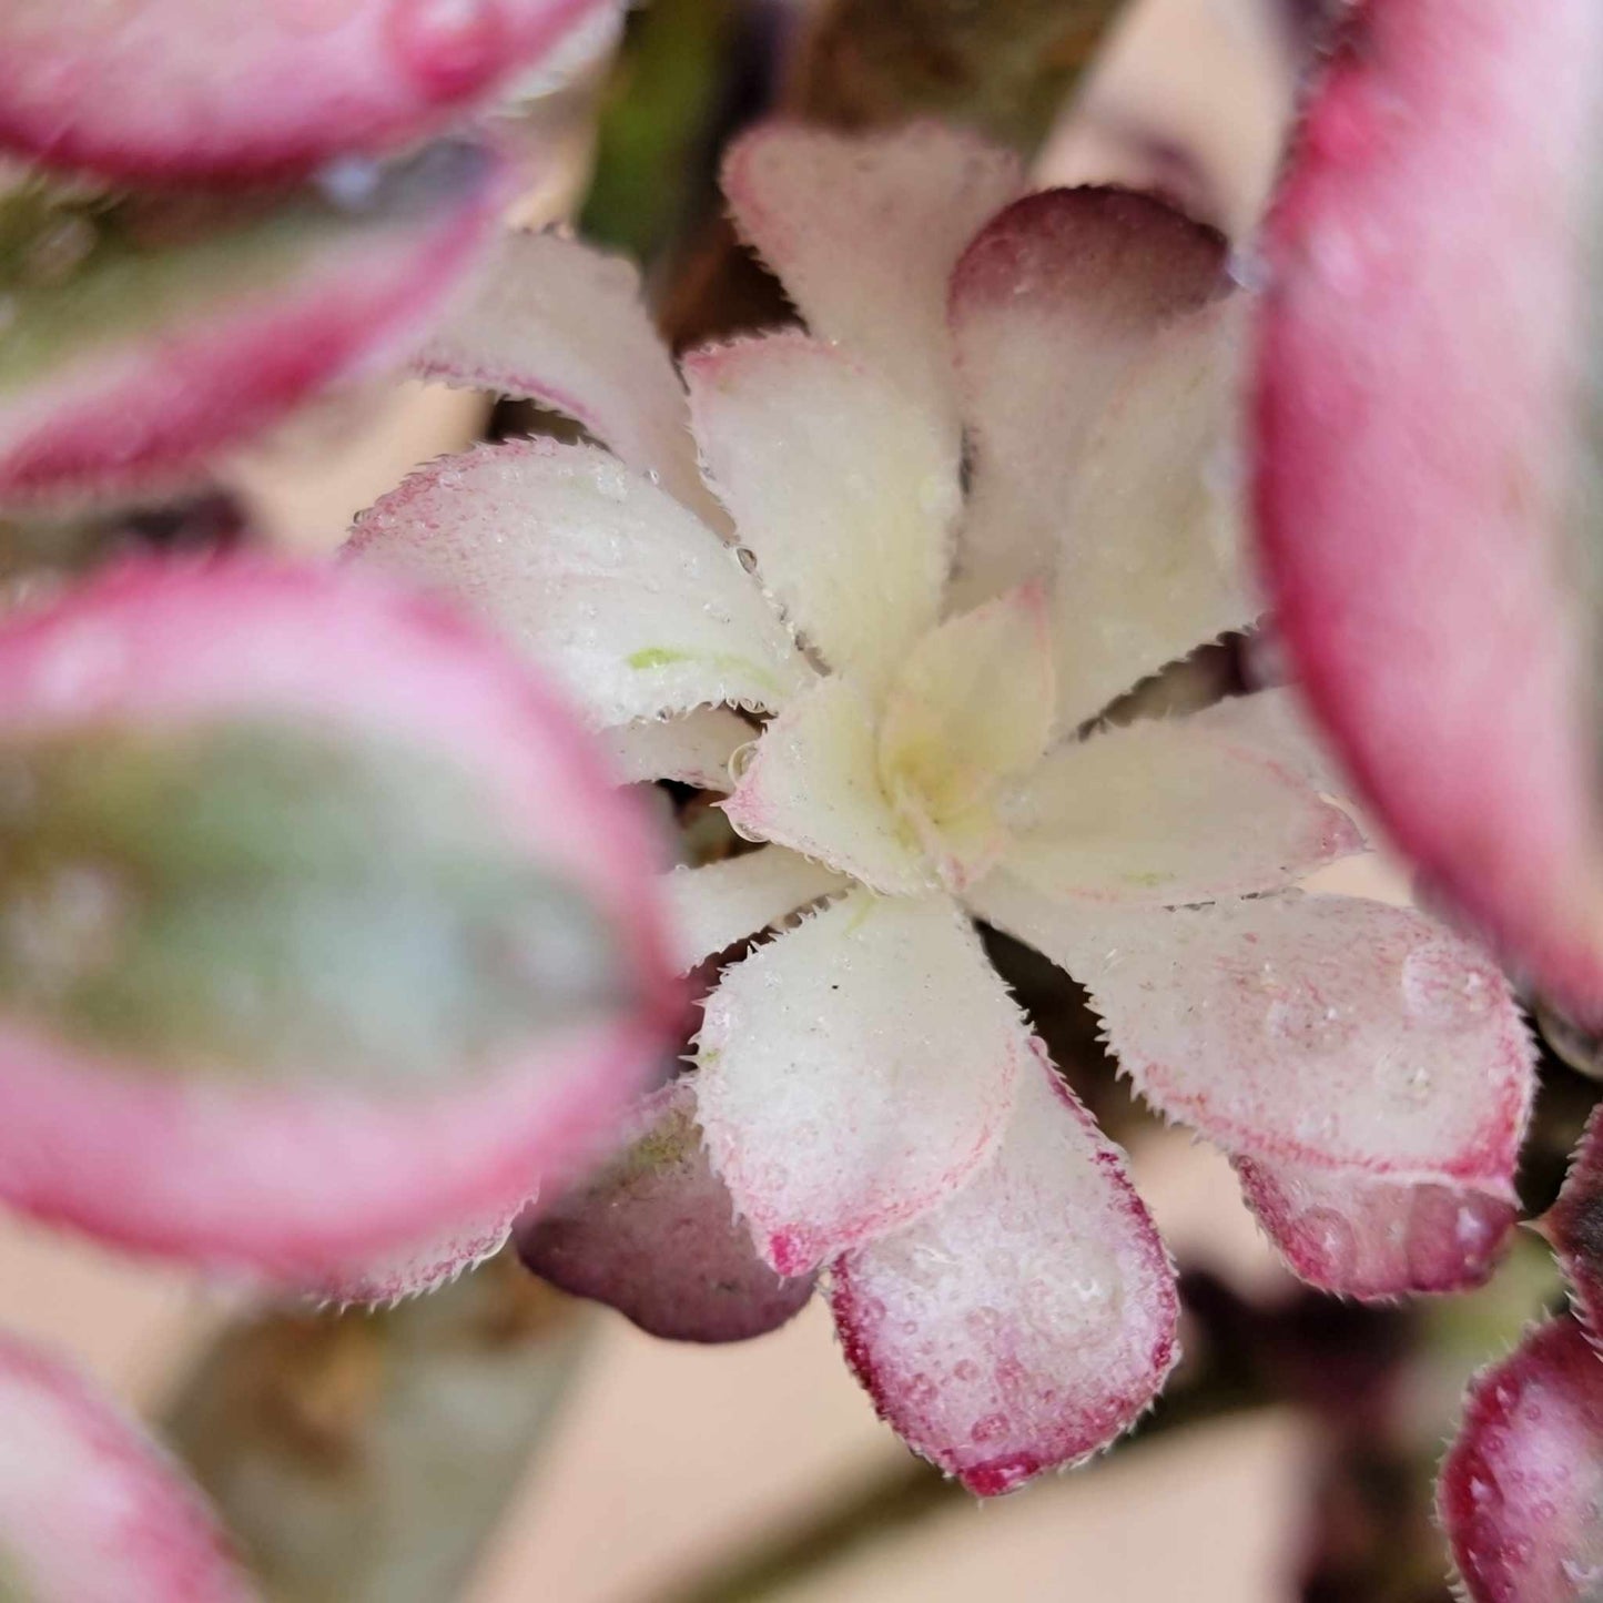
[[[0,1021],[0,1197],[313,1289],[559,1183],[657,1071],[678,987],[657,851],[567,709],[433,601],[255,559],[136,563],[0,630],[0,731],[281,713],[455,758],[619,931],[635,1005],[449,1093],[181,1084]]]

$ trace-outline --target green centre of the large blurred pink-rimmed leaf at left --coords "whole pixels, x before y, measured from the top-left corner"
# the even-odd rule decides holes
[[[274,723],[0,744],[0,999],[173,1074],[441,1082],[619,1000],[466,776]]]

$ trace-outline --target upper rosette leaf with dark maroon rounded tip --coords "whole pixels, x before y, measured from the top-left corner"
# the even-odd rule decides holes
[[[1052,574],[1092,431],[1165,322],[1221,293],[1223,268],[1218,234],[1122,189],[1028,196],[963,252],[951,322],[975,450],[965,604]]]

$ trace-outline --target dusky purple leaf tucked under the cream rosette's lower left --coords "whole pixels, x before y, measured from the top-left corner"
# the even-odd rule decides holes
[[[745,1342],[813,1295],[813,1274],[784,1279],[757,1255],[707,1162],[688,1080],[641,1104],[606,1169],[535,1209],[518,1226],[518,1250],[553,1286],[673,1342]]]

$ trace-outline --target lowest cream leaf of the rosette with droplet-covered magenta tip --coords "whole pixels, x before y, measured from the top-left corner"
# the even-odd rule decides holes
[[[1173,1268],[1124,1156],[1037,1053],[986,1169],[832,1270],[880,1415],[981,1497],[1106,1448],[1178,1356]]]

